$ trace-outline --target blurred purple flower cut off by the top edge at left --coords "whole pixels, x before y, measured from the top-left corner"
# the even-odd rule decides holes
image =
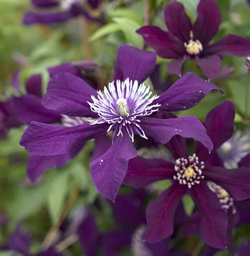
[[[97,2],[96,0],[88,0],[88,3],[92,8],[97,8],[99,6],[99,1]],[[58,7],[61,11],[27,12],[23,19],[24,25],[60,23],[77,16],[84,16],[87,20],[99,24],[105,22],[103,16],[92,16],[85,8],[83,8],[81,0],[32,0],[32,5],[36,8],[45,9]]]

